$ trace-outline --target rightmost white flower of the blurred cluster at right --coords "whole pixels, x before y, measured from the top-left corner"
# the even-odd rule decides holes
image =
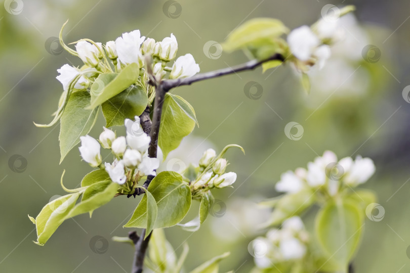
[[[375,171],[376,167],[372,159],[357,156],[350,170],[344,176],[344,181],[347,185],[351,186],[363,184]]]

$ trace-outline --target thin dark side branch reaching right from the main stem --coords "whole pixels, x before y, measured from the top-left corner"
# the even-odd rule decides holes
[[[166,92],[168,92],[170,89],[180,86],[180,85],[190,85],[193,82],[196,81],[201,81],[201,80],[206,80],[206,79],[211,79],[211,78],[217,78],[217,77],[221,77],[224,75],[229,75],[229,74],[233,74],[233,73],[237,73],[237,72],[241,72],[241,71],[245,71],[245,70],[253,70],[256,67],[262,65],[263,63],[269,62],[269,61],[274,61],[274,60],[278,60],[278,61],[284,61],[284,57],[281,54],[275,54],[272,55],[271,57],[258,61],[258,60],[252,60],[249,62],[246,62],[244,64],[241,65],[237,65],[237,66],[233,66],[233,67],[228,67],[228,68],[222,68],[219,70],[215,70],[215,71],[210,71],[210,72],[206,72],[206,73],[200,73],[200,74],[196,74],[192,77],[188,77],[188,78],[182,78],[182,79],[171,79],[171,80],[164,80],[161,82],[160,85],[162,85],[163,89],[166,90]]]

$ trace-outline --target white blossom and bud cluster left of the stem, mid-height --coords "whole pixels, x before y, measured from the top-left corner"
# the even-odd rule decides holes
[[[112,164],[105,162],[104,167],[112,181],[124,184],[128,179],[138,181],[145,175],[155,175],[159,166],[161,151],[158,147],[158,158],[148,157],[148,146],[151,138],[143,131],[140,119],[125,120],[127,136],[116,137],[115,132],[104,127],[100,134],[101,146],[111,149],[116,159]],[[81,157],[93,167],[103,167],[100,154],[100,143],[90,135],[81,136]]]

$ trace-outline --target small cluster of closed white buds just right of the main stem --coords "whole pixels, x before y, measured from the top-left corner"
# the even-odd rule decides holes
[[[199,160],[199,167],[206,169],[214,161],[216,152],[214,149],[208,149],[203,152],[201,159]],[[192,185],[195,189],[202,187],[207,188],[225,188],[231,186],[236,181],[236,173],[230,171],[225,173],[226,166],[228,165],[225,158],[217,159],[212,166],[212,169],[199,175]]]

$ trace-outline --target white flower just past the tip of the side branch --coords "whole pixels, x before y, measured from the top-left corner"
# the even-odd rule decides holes
[[[295,55],[296,58],[301,61],[307,61],[320,44],[320,41],[310,27],[301,26],[289,33],[288,43],[292,54]]]

